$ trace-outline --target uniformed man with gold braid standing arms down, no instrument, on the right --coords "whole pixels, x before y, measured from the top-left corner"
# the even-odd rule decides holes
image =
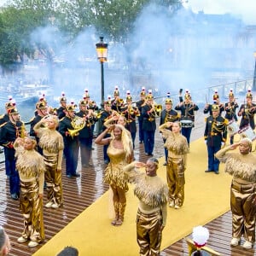
[[[208,152],[208,169],[205,172],[218,174],[219,160],[215,154],[226,142],[228,120],[219,115],[219,107],[212,104],[212,115],[206,119],[205,142]]]

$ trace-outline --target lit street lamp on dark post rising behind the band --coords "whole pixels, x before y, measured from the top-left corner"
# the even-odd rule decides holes
[[[103,42],[103,37],[100,37],[100,42],[96,44],[96,51],[98,55],[98,61],[101,63],[101,74],[102,74],[102,108],[104,107],[104,62],[107,61],[108,55],[108,44]]]

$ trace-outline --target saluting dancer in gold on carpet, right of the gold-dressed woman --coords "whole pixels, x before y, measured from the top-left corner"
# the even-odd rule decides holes
[[[170,127],[172,127],[172,131],[168,129]],[[160,125],[159,130],[166,138],[165,147],[168,150],[166,180],[169,187],[169,206],[178,209],[183,206],[184,201],[184,172],[189,144],[186,137],[180,132],[180,122],[166,122]]]

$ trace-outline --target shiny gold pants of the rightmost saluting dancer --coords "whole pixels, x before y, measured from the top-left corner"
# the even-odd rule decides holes
[[[232,181],[230,204],[232,212],[232,236],[255,241],[256,184]]]

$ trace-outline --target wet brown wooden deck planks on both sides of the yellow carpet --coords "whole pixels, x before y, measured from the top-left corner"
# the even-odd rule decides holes
[[[195,126],[192,132],[192,139],[202,136],[202,127],[204,123],[201,119]],[[158,132],[155,133],[154,155],[160,157],[163,155],[163,143]],[[143,145],[136,143],[135,154],[137,160],[147,160],[144,155]],[[86,207],[101,196],[107,189],[108,185],[102,183],[103,170],[105,165],[102,161],[102,146],[94,145],[91,164],[93,167],[83,168],[80,178],[67,178],[65,175],[65,165],[63,163],[63,189],[64,189],[64,207],[60,209],[44,208],[44,227],[45,227],[45,242],[49,241],[52,236],[55,236],[63,227],[76,218],[79,213],[83,212]],[[38,250],[38,247],[29,248],[27,244],[17,243],[17,238],[20,236],[23,225],[22,216],[19,211],[19,201],[13,201],[9,196],[9,182],[5,176],[4,164],[0,164],[0,224],[7,230],[11,240],[11,252],[9,255],[26,256]],[[44,198],[44,203],[46,198]],[[227,212],[223,216],[213,220],[207,224],[210,230],[210,239],[207,246],[212,247],[222,255],[254,255],[254,250],[244,250],[242,247],[230,247],[231,240],[231,213]],[[44,245],[43,243],[43,245]],[[40,245],[42,246],[42,245]],[[167,247],[162,256],[188,255],[188,247],[182,239]],[[49,255],[51,256],[51,255]],[[54,256],[54,255],[53,255]],[[96,255],[97,256],[97,255]],[[99,255],[101,256],[101,255]],[[110,256],[110,255],[109,255]]]

